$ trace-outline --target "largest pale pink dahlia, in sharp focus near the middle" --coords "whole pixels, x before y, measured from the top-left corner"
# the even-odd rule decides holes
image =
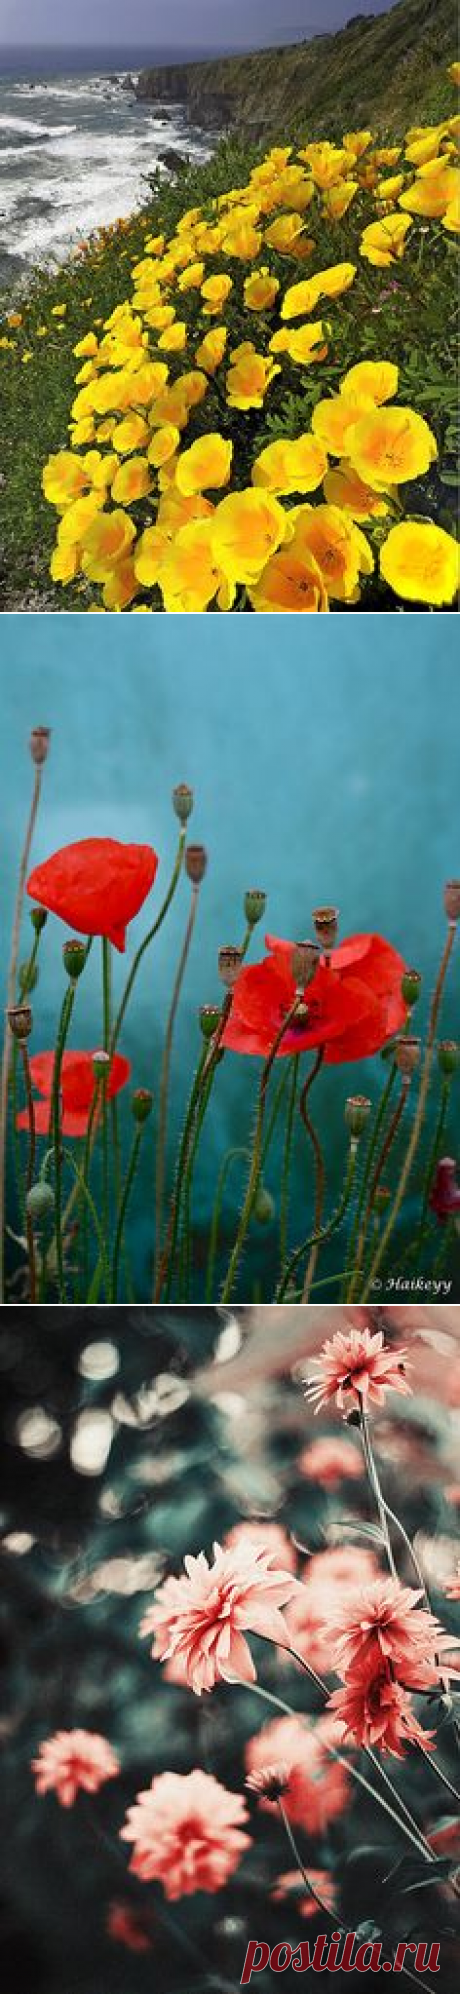
[[[185,1663],[189,1689],[199,1697],[213,1689],[219,1677],[229,1683],[243,1677],[255,1681],[255,1665],[247,1633],[265,1641],[289,1641],[281,1607],[293,1597],[297,1579],[273,1569],[269,1551],[261,1545],[239,1545],[223,1551],[213,1545],[213,1565],[203,1551],[185,1557],[185,1573],[165,1579],[141,1621],[141,1635],[153,1633],[155,1661]]]

